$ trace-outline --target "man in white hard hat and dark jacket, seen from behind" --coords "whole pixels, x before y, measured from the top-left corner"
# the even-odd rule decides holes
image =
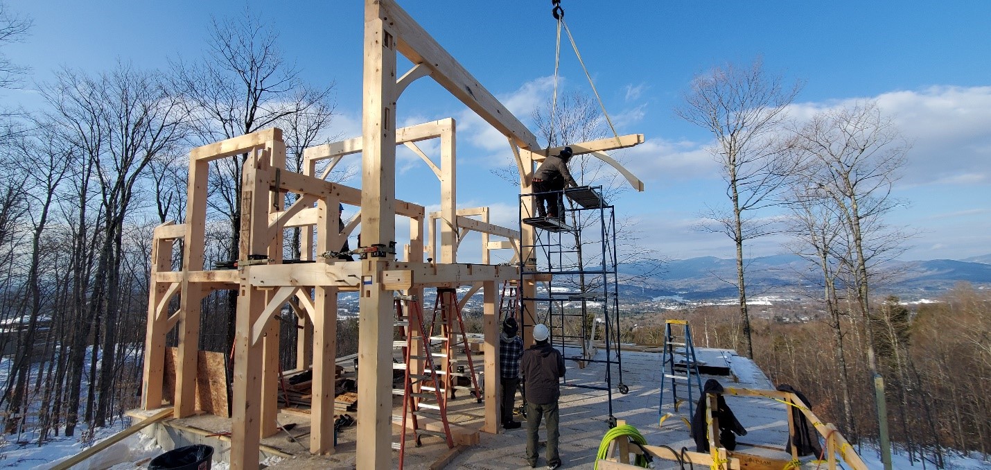
[[[537,466],[537,431],[540,418],[547,422],[547,468],[561,466],[558,454],[559,383],[564,377],[564,356],[550,345],[550,330],[543,324],[533,327],[533,346],[523,352],[523,393],[526,397],[526,461]]]

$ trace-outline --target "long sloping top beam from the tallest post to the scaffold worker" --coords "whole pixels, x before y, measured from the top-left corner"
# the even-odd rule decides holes
[[[437,83],[485,119],[502,135],[512,137],[517,145],[538,149],[537,138],[502,105],[461,63],[451,57],[393,0],[382,0],[382,8],[395,31],[396,49],[413,63],[430,67]],[[367,24],[367,23],[366,23]],[[366,64],[369,57],[366,55]],[[367,135],[367,134],[366,134]]]

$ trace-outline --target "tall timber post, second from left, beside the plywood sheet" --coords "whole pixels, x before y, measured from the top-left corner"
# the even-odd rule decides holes
[[[175,357],[175,417],[188,416],[196,410],[196,351],[199,348],[199,285],[189,282],[190,271],[203,270],[203,246],[206,243],[206,179],[209,164],[190,154],[187,186],[185,243],[182,256],[182,286],[179,298],[178,352]]]

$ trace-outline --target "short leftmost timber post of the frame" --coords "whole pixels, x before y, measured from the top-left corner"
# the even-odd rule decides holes
[[[170,223],[170,222],[169,222]],[[169,283],[156,281],[156,274],[171,271],[172,241],[156,237],[152,241],[152,276],[148,290],[148,330],[145,333],[145,386],[141,408],[154,410],[162,406],[162,381],[165,377],[165,327],[168,314],[159,311]],[[168,304],[162,305],[162,309]]]

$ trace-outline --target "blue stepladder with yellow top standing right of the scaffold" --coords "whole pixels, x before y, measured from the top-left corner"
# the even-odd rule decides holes
[[[689,419],[695,415],[695,402],[702,397],[702,378],[699,374],[699,359],[695,355],[692,342],[692,326],[688,320],[666,320],[664,322],[664,356],[662,362],[661,400],[657,407],[661,415],[658,425],[670,416],[678,415],[678,408],[688,402],[688,415],[679,416],[691,429]],[[679,386],[684,395],[679,395]],[[668,390],[670,389],[670,390]],[[674,406],[674,411],[664,411],[665,398]]]

